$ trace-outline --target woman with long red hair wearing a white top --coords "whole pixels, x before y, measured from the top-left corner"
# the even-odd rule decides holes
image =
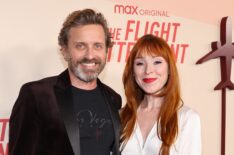
[[[122,155],[200,155],[200,118],[183,105],[174,52],[145,35],[134,45],[123,74]]]

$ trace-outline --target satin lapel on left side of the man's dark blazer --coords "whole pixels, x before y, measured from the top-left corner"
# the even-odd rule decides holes
[[[59,75],[54,91],[74,155],[80,155],[79,126],[73,111],[71,84],[67,70]]]

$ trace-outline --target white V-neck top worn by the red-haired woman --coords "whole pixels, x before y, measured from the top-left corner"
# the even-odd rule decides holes
[[[183,106],[178,113],[179,133],[170,155],[201,155],[201,125],[199,115]],[[161,140],[157,136],[157,124],[153,126],[145,143],[136,123],[134,132],[121,155],[159,155]]]

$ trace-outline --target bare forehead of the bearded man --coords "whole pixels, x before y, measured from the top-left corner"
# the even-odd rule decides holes
[[[101,25],[90,24],[72,27],[68,33],[69,40],[82,42],[105,42],[105,32]]]

